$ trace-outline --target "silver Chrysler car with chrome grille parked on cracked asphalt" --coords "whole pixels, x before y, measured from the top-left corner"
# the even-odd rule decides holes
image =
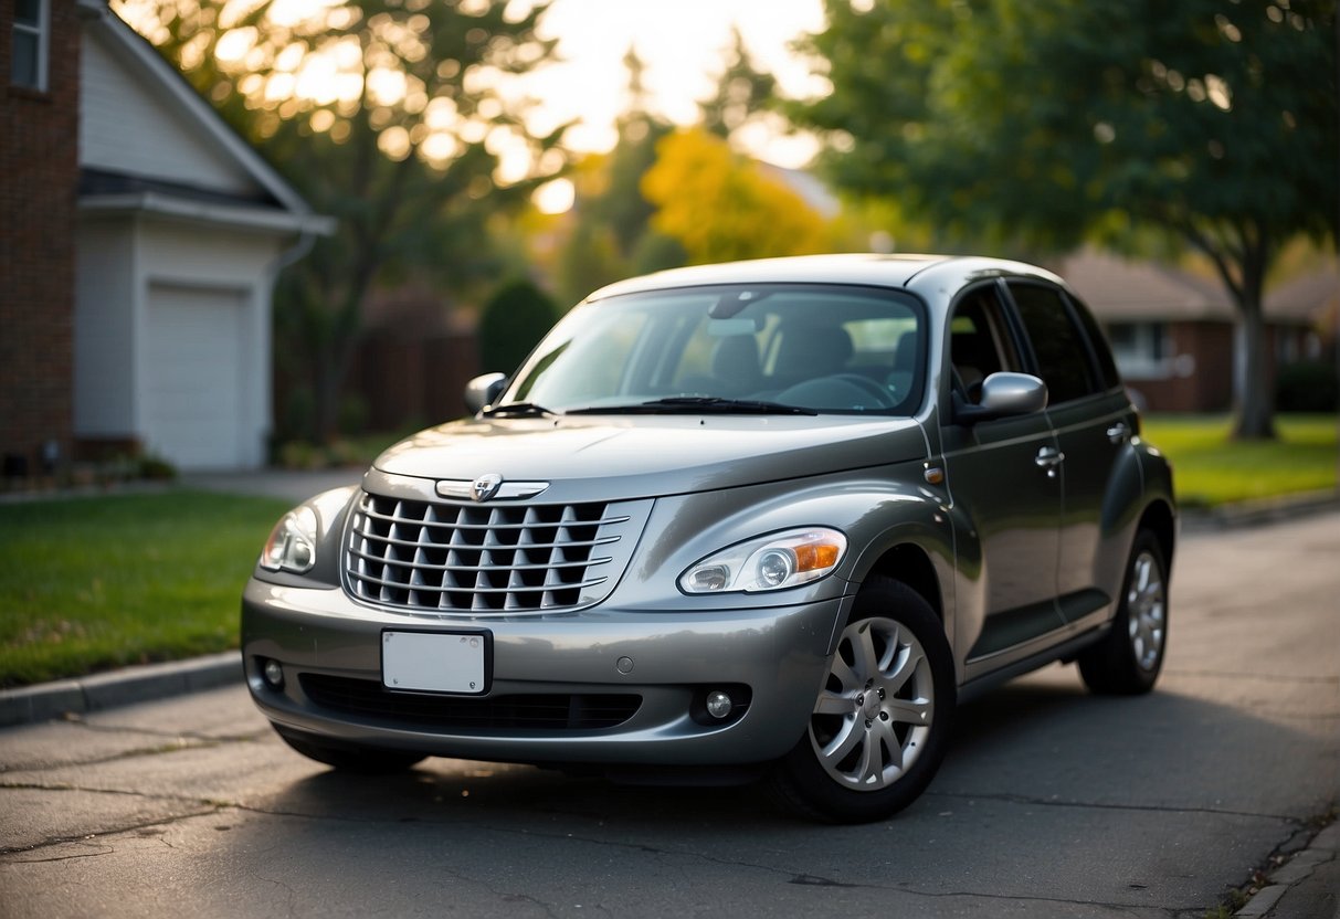
[[[251,694],[318,762],[764,781],[862,823],[993,686],[1159,675],[1171,468],[1041,268],[653,273],[466,403],[285,514],[245,587]]]

